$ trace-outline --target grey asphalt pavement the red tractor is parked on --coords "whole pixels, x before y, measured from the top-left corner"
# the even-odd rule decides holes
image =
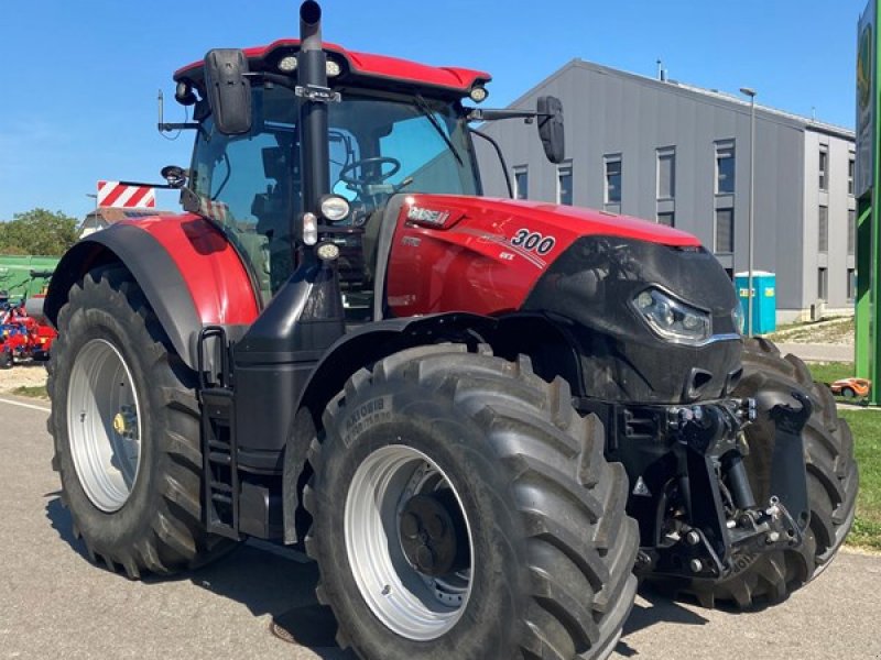
[[[314,597],[315,565],[297,552],[248,542],[188,575],[141,582],[91,565],[58,499],[46,413],[0,397],[0,659],[355,658],[334,645],[334,619]],[[881,557],[847,552],[763,612],[646,593],[612,657],[881,660],[879,594]],[[486,658],[505,660],[490,649]]]

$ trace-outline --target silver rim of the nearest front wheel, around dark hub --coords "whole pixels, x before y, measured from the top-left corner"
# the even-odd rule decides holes
[[[448,495],[447,490],[464,520],[467,539],[457,541],[467,546],[468,561],[449,574],[432,576],[407,559],[400,519],[412,497]],[[374,451],[355,473],[344,528],[355,582],[377,618],[395,634],[417,641],[453,629],[471,595],[474,540],[461,497],[434,461],[410,447]]]

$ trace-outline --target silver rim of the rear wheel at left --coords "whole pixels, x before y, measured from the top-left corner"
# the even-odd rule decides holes
[[[67,432],[79,483],[106,513],[128,502],[141,466],[141,410],[131,371],[104,339],[76,356],[67,393]]]

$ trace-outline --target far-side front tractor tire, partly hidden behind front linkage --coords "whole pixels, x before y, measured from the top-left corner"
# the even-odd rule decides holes
[[[678,591],[695,595],[701,605],[717,602],[740,609],[777,603],[819,575],[835,558],[853,525],[859,476],[853,437],[838,418],[828,387],[815,383],[795,355],[781,355],[764,339],[743,340],[743,377],[735,396],[755,396],[773,389],[801,389],[814,406],[803,431],[811,522],[800,550],[775,551],[737,562],[736,573],[719,581],[693,581]],[[747,472],[758,502],[768,502],[774,425],[761,417],[747,429],[750,454]]]

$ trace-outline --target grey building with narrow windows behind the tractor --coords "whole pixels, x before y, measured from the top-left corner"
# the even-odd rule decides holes
[[[695,234],[729,274],[748,268],[750,103],[740,98],[573,61],[511,105],[563,101],[566,157],[552,165],[535,128],[498,121],[518,197],[603,209]],[[503,170],[477,141],[487,195]],[[755,106],[755,271],[776,274],[777,321],[852,311],[851,131]]]

